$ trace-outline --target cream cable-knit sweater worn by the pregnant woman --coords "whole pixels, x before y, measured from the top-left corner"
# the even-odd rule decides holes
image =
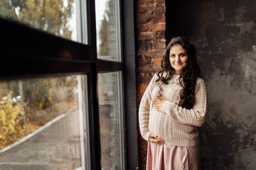
[[[196,81],[196,103],[192,109],[178,106],[181,86],[178,85],[179,75],[174,74],[169,84],[161,85],[162,105],[161,112],[156,111],[154,103],[160,101],[159,85],[156,84],[158,76],[154,74],[149,86],[146,88],[139,106],[139,128],[144,140],[149,141],[151,133],[158,135],[167,144],[181,147],[194,147],[199,145],[198,128],[206,120],[207,94],[203,79]]]

